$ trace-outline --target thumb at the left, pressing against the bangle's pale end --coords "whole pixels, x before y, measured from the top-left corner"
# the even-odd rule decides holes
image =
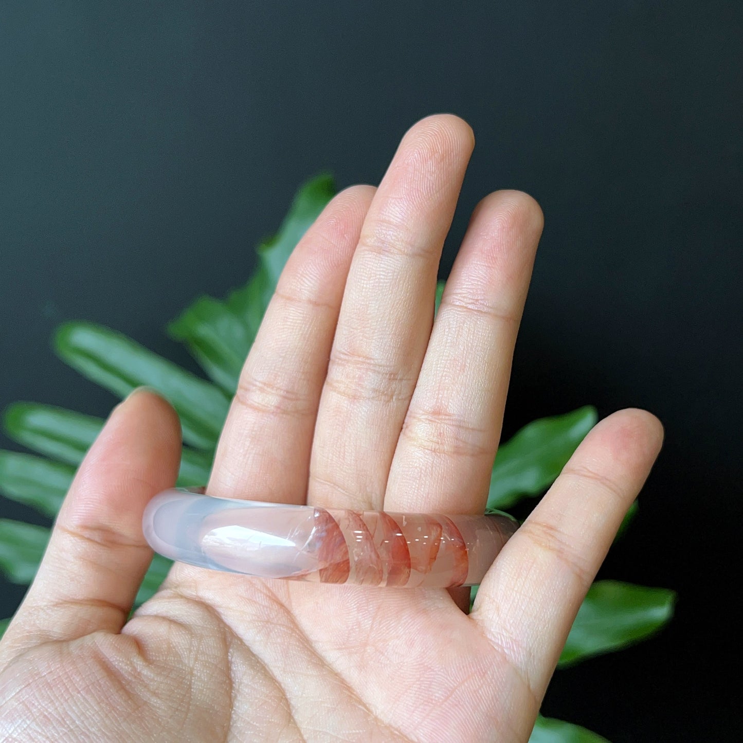
[[[152,560],[143,510],[175,483],[180,428],[172,407],[148,390],[135,390],[114,409],[65,497],[2,655],[119,632]]]

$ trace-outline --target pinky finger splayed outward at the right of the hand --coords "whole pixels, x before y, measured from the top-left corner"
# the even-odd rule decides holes
[[[586,436],[488,571],[470,615],[542,699],[581,601],[663,442],[643,410],[609,416]],[[534,710],[536,714],[536,710]]]

